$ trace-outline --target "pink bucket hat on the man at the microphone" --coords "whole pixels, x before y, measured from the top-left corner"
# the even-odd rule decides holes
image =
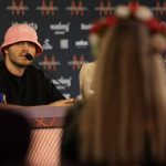
[[[1,45],[2,54],[4,54],[3,50],[6,46],[21,41],[29,41],[34,43],[37,45],[37,55],[43,52],[43,49],[38,41],[37,32],[32,27],[28,24],[14,24],[6,32],[4,41]]]

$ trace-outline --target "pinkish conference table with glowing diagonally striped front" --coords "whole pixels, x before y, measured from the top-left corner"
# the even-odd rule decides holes
[[[29,165],[60,166],[62,126],[68,107],[9,105],[7,108],[24,114],[32,124]]]

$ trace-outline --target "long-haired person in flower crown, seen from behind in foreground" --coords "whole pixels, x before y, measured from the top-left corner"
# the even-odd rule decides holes
[[[166,165],[166,28],[142,6],[120,6],[106,20],[95,95],[68,113],[62,164]]]

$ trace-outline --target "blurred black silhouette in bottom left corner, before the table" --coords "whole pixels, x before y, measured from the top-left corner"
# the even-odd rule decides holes
[[[22,114],[0,108],[0,166],[27,165],[30,127],[30,122]]]

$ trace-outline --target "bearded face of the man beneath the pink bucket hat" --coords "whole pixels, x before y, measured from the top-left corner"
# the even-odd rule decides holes
[[[32,42],[18,42],[4,49],[6,64],[17,65],[19,68],[28,66],[31,61],[25,58],[27,53],[35,55],[37,48]]]

